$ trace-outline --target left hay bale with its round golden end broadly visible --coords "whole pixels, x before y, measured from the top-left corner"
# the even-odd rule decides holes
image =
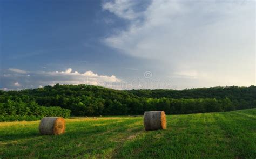
[[[65,133],[65,120],[61,117],[44,117],[39,124],[39,132],[44,135]]]

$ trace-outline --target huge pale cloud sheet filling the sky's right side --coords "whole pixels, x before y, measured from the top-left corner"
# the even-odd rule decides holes
[[[105,44],[154,61],[166,76],[197,79],[190,87],[255,83],[255,1],[154,0],[143,11],[111,1],[103,8],[130,21]]]

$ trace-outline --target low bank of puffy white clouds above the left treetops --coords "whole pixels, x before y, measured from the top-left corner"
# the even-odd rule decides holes
[[[8,89],[19,88],[34,88],[35,85],[39,85],[42,88],[43,85],[55,85],[59,84],[89,84],[109,86],[118,85],[122,83],[122,80],[116,76],[98,75],[92,71],[86,71],[85,73],[79,73],[78,71],[72,71],[71,68],[65,71],[30,71],[30,76],[23,73],[13,73],[12,70],[7,70],[8,74],[4,74],[2,77],[3,85]],[[19,82],[22,83],[19,84]]]

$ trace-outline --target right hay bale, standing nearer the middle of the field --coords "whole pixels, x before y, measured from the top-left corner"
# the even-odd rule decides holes
[[[164,111],[145,112],[143,118],[146,131],[166,128],[166,118]]]

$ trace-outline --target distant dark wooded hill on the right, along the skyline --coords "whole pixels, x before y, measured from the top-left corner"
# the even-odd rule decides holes
[[[184,90],[167,90],[167,89],[140,89],[130,90],[133,95],[146,98],[216,98],[216,99],[237,99],[237,100],[254,100],[256,99],[256,86],[239,87],[239,86],[217,86],[211,88],[194,88]]]

